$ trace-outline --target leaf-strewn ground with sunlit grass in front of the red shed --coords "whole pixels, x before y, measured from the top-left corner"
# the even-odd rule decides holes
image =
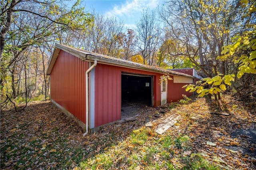
[[[137,120],[83,137],[82,129],[49,101],[1,113],[1,169],[256,169],[256,103],[141,106]],[[216,113],[229,113],[220,115]],[[162,135],[167,117],[181,115]],[[152,127],[145,127],[150,117]]]

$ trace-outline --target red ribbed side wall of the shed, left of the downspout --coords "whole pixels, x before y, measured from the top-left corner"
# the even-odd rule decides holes
[[[51,99],[86,123],[85,72],[88,62],[60,51],[51,72]]]

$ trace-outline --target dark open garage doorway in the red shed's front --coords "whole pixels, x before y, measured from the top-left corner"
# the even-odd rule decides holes
[[[121,117],[138,114],[138,109],[152,106],[152,76],[121,74]]]

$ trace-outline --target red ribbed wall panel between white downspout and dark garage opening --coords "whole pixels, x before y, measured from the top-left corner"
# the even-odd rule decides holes
[[[95,127],[121,118],[121,72],[114,66],[95,68]]]

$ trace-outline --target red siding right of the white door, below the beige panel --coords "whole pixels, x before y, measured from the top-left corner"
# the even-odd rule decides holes
[[[182,88],[182,86],[189,83],[174,83],[173,76],[170,76],[172,80],[168,80],[168,90],[167,90],[167,102],[177,102],[178,100],[183,99],[182,94],[186,96],[191,96],[192,93],[186,92],[186,88]]]

